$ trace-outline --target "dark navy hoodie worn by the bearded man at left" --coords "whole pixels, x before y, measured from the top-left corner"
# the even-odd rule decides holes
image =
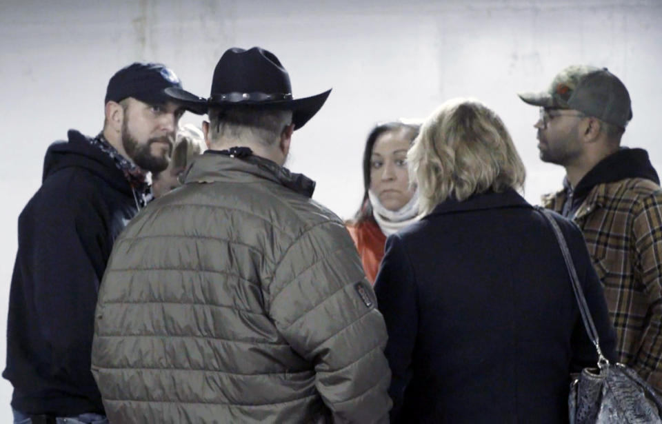
[[[112,243],[138,212],[108,154],[80,132],[50,145],[41,188],[19,216],[7,367],[12,407],[28,414],[103,413],[90,372],[94,307]]]

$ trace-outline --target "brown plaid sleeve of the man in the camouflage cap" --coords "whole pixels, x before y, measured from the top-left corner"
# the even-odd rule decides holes
[[[637,203],[633,225],[635,272],[650,309],[632,367],[662,393],[662,192]]]

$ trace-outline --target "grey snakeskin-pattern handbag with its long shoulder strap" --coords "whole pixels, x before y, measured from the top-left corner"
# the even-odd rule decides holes
[[[639,375],[621,363],[609,363],[600,350],[598,332],[572,263],[572,256],[559,225],[550,212],[536,208],[552,225],[565,266],[572,280],[572,290],[589,339],[598,352],[596,368],[584,368],[572,376],[568,407],[570,424],[652,424],[662,423],[662,401]]]

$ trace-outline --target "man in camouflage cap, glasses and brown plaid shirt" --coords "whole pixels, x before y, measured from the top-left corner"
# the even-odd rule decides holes
[[[619,361],[662,392],[662,190],[648,153],[621,146],[630,94],[606,68],[573,65],[539,106],[540,159],[565,168],[543,205],[582,229],[618,336]]]

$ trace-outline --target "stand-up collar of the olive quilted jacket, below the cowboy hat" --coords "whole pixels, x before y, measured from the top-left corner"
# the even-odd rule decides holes
[[[207,150],[197,157],[183,177],[184,183],[215,181],[252,183],[266,179],[294,192],[312,197],[315,182],[303,174],[290,172],[277,163],[254,154],[230,157],[218,150]]]

